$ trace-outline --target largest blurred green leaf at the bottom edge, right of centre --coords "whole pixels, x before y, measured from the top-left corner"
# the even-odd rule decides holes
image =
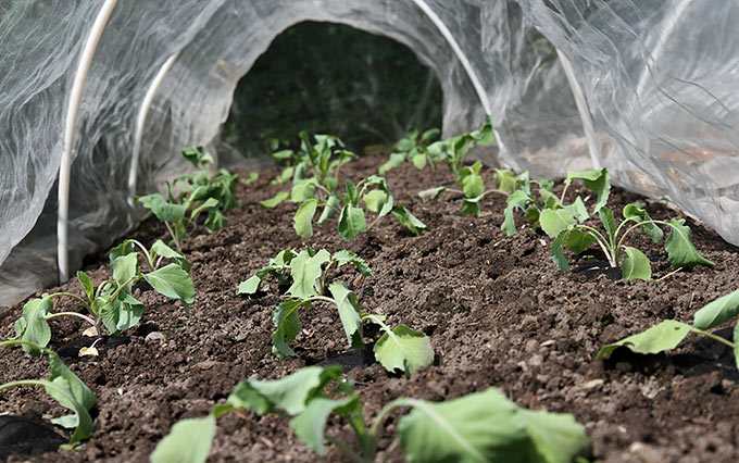
[[[572,415],[517,408],[494,388],[441,403],[409,400],[398,423],[409,462],[571,462],[590,442]]]

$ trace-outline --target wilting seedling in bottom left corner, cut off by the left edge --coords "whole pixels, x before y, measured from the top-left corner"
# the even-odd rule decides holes
[[[97,403],[92,391],[83,383],[77,375],[66,367],[64,362],[51,349],[30,341],[11,339],[0,342],[0,347],[23,346],[26,352],[34,355],[46,353],[49,355],[48,379],[22,379],[0,385],[0,390],[16,386],[43,386],[46,392],[60,405],[74,412],[72,415],[60,416],[51,420],[51,423],[64,428],[74,428],[70,445],[87,439],[92,433],[92,417],[90,410]]]

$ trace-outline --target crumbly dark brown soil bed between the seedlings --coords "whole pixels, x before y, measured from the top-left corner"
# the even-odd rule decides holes
[[[342,174],[360,178],[381,162],[365,158],[342,167]],[[315,226],[313,238],[304,241],[292,229],[295,204],[258,208],[287,188],[271,184],[278,173],[262,171],[258,182],[240,184],[241,208],[227,214],[230,225],[213,235],[199,230],[185,242],[196,286],[190,316],[179,303],[137,288],[135,296],[147,305],[140,326],[105,342],[98,358],[84,359],[74,358],[82,346],[74,342],[80,342],[85,326],[76,318],[51,322],[50,347],[71,352],[64,361],[89,385],[98,405],[95,431],[79,449],[47,452],[34,461],[147,461],[175,422],[204,416],[240,379],[276,379],[326,363],[340,363],[355,381],[369,420],[397,397],[440,401],[494,386],[522,406],[574,414],[592,441],[592,458],[603,462],[739,461],[739,375],[729,348],[689,337],[666,354],[617,350],[596,360],[604,343],[665,318],[690,323],[698,309],[737,289],[737,248],[710,228],[687,220],[698,250],[716,263],[713,270],[672,273],[664,247],[635,234],[631,245],[650,258],[655,280],[612,279],[592,270],[565,273],[552,263],[546,235],[529,227],[513,237],[500,230],[504,198],[486,197],[480,217],[462,216],[461,198],[454,195],[422,203],[417,191],[448,182],[449,174],[404,165],[387,174],[390,189],[396,202],[429,226],[428,233],[414,236],[388,216],[352,242],[341,240],[331,221]],[[248,173],[239,174],[246,178]],[[491,172],[485,175],[492,185]],[[555,191],[561,188],[558,184]],[[568,195],[578,192],[587,196],[573,187]],[[614,188],[609,205],[621,211],[632,201],[644,200]],[[662,202],[646,203],[655,218],[680,214]],[[151,245],[164,232],[150,218],[129,237]],[[354,288],[363,310],[427,334],[434,365],[405,379],[388,374],[371,352],[348,353],[338,314],[321,304],[301,314],[301,334],[291,342],[300,356],[273,355],[272,315],[280,301],[276,283],[265,280],[253,297],[237,295],[237,287],[278,251],[305,246],[349,249],[364,258],[374,271],[371,277],[359,278],[349,266],[333,277]],[[588,263],[568,256],[573,267]],[[96,283],[109,278],[107,256],[91,260],[85,271]],[[59,290],[83,293],[77,281],[48,289]],[[0,315],[2,338],[13,336],[22,305]],[[79,308],[60,299],[55,310]],[[730,339],[727,327],[716,333]],[[367,342],[377,337],[365,335]],[[47,374],[43,358],[0,351],[0,383]],[[0,411],[45,421],[66,413],[42,390],[27,387],[2,391]],[[397,420],[386,422],[380,459],[403,461],[398,449],[386,454]],[[328,433],[350,439],[349,427],[339,421],[329,421]],[[211,461],[320,460],[284,418],[251,412],[222,417],[211,451]],[[329,446],[325,461],[345,459]]]

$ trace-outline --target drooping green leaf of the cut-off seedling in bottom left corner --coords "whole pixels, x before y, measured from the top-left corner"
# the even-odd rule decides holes
[[[89,410],[97,403],[95,395],[77,375],[67,368],[55,352],[49,352],[49,380],[43,381],[46,392],[60,405],[74,412],[73,416],[57,418],[57,421],[76,427],[70,438],[70,443],[87,439],[93,427]]]

